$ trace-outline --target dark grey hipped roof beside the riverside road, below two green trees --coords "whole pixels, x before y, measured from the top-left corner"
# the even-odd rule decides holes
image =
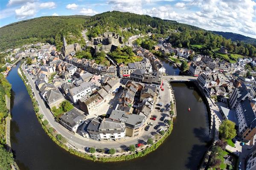
[[[60,119],[70,127],[74,127],[85,119],[85,115],[80,113],[77,108],[73,108],[69,112],[64,113]]]

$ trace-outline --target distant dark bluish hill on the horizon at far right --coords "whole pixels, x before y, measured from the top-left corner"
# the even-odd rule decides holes
[[[256,44],[255,38],[246,37],[241,34],[236,34],[233,32],[222,32],[222,31],[212,31],[212,32],[215,34],[222,35],[222,37],[224,37],[224,38],[231,39],[232,41],[243,41],[243,42],[249,43],[249,44],[253,44],[253,43]]]

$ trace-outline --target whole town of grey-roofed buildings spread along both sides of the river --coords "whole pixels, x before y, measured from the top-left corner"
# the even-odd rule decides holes
[[[121,36],[112,32],[86,39],[95,52],[112,52],[126,46],[141,58],[137,62],[119,63],[107,53],[111,65],[77,58],[77,53],[84,49],[79,43],[68,45],[65,37],[61,51],[56,51],[54,45],[37,43],[5,52],[9,52],[12,62],[26,59],[20,72],[29,80],[42,120],[58,133],[62,130],[61,135],[69,141],[72,137],[86,141],[80,142],[79,149],[74,141],[68,144],[70,147],[89,152],[90,147],[100,148],[105,141],[138,146],[143,142],[134,139],[157,140],[156,135],[161,137],[178,114],[170,82],[193,81],[207,99],[215,128],[219,130],[225,120],[235,123],[235,147],[227,148],[238,156],[248,154],[242,148],[245,145],[250,149],[256,142],[256,72],[249,70],[256,66],[256,59],[244,57],[230,63],[191,49],[172,47],[166,40],[159,38],[151,51],[123,42]],[[219,52],[228,53],[224,46]],[[166,75],[159,56],[183,70],[182,75]],[[6,64],[6,75],[11,66]],[[218,139],[218,134],[215,138]],[[249,158],[244,156],[248,169],[256,166],[255,155],[254,151]]]

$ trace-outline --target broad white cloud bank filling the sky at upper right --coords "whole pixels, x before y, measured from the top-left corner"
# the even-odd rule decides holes
[[[189,9],[186,9],[188,6]],[[165,5],[142,9],[142,13],[207,30],[234,32],[256,38],[255,7],[253,0],[192,0],[176,3],[174,7]],[[140,14],[140,11],[134,13]]]

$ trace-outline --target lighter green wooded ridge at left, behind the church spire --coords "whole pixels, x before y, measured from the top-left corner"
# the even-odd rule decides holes
[[[62,46],[62,35],[67,43],[79,42],[84,45],[81,30],[87,16],[39,17],[12,23],[0,28],[0,51],[18,48],[24,44],[49,42]]]

